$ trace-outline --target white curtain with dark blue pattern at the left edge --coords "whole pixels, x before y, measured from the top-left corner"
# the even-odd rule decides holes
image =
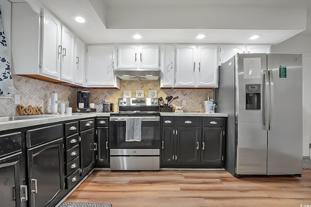
[[[14,94],[7,42],[0,19],[0,95]]]

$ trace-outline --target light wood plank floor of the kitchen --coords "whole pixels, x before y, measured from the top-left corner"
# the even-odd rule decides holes
[[[216,170],[95,170],[66,201],[112,207],[311,207],[311,170],[303,170],[302,177],[243,178]]]

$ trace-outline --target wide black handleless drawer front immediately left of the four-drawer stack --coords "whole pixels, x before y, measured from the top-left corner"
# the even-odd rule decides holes
[[[41,143],[51,142],[63,137],[63,134],[64,127],[62,124],[28,130],[27,146],[32,147]]]

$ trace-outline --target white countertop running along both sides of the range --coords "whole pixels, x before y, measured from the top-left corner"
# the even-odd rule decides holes
[[[226,113],[205,113],[205,112],[160,112],[161,116],[212,116],[227,117]],[[36,125],[50,124],[55,122],[69,121],[74,119],[87,119],[94,117],[109,117],[109,112],[91,112],[91,113],[65,113],[65,114],[41,114],[24,115],[23,117],[35,117],[31,119],[0,122],[0,131],[16,129],[22,127],[31,127]]]

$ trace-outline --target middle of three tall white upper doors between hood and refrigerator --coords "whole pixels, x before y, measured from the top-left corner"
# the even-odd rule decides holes
[[[176,46],[176,83],[177,87],[195,86],[195,67],[196,61],[195,46],[177,45]]]

